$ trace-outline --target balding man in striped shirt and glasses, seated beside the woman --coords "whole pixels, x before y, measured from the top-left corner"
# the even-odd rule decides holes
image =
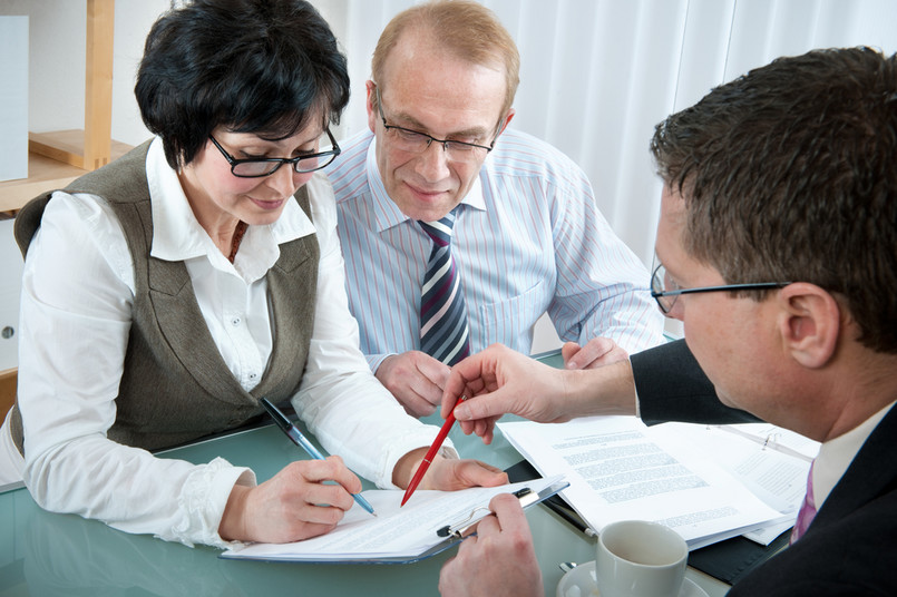
[[[399,13],[367,81],[370,130],[344,141],[328,172],[361,350],[418,417],[439,404],[451,364],[421,351],[432,241],[419,221],[454,211],[450,251],[472,352],[500,342],[529,353],[546,312],[567,341],[568,368],[662,341],[649,273],[598,213],[585,174],[506,128],[518,70],[514,40],[476,2]]]

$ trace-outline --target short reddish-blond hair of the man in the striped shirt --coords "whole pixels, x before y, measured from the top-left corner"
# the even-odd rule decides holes
[[[491,10],[468,0],[436,0],[398,13],[383,29],[373,51],[371,77],[376,82],[382,82],[389,52],[411,29],[427,31],[433,48],[447,49],[472,65],[503,68],[506,91],[500,117],[507,114],[520,82],[520,55]]]

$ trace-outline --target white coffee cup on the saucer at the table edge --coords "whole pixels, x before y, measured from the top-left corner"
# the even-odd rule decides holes
[[[601,597],[676,597],[689,547],[674,530],[646,520],[612,522],[598,534],[595,574]]]

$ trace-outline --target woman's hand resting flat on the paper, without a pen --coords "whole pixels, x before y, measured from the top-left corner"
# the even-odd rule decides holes
[[[427,448],[420,448],[400,458],[392,473],[392,482],[406,489],[426,453]],[[507,482],[508,474],[505,471],[479,460],[458,460],[437,454],[418,489],[457,491],[468,487],[498,487]]]

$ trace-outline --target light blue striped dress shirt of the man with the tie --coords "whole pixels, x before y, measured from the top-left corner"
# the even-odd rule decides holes
[[[431,241],[387,195],[376,139],[344,141],[328,168],[337,198],[350,310],[372,371],[420,350],[420,292]],[[607,336],[635,352],[663,340],[649,273],[595,205],[592,185],[550,145],[506,130],[455,222],[472,352],[500,342],[528,354],[548,313],[562,340]]]

